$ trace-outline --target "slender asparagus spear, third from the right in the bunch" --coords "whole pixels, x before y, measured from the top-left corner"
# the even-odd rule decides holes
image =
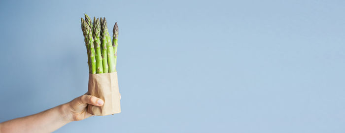
[[[106,31],[104,29],[106,29],[106,25],[104,25],[104,20],[101,18],[100,19],[101,22],[101,39],[102,39],[102,57],[103,57],[103,71],[104,73],[108,72],[108,58],[107,58],[107,49],[106,49]]]

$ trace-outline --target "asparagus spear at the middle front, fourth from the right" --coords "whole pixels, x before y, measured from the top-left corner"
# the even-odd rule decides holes
[[[101,41],[100,41],[100,32],[101,32],[101,25],[100,20],[94,17],[94,45],[96,47],[96,73],[103,73],[103,65],[102,65],[102,54],[101,54]]]

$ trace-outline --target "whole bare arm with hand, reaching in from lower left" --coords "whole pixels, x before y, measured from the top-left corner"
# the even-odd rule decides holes
[[[92,116],[86,111],[87,104],[102,106],[104,101],[91,95],[82,95],[43,112],[0,123],[0,133],[51,133],[69,122]]]

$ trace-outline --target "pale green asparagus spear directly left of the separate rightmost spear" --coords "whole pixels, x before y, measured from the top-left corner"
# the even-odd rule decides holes
[[[104,21],[104,31],[106,33],[106,46],[107,46],[107,56],[108,56],[108,66],[109,66],[109,72],[114,72],[116,71],[115,69],[115,55],[114,55],[114,48],[111,45],[111,37],[108,33],[108,28],[107,28],[107,24],[106,24],[106,19],[105,17],[103,18]],[[105,39],[105,38],[103,38]]]

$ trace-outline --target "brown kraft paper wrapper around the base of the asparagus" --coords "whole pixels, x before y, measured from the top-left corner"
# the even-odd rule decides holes
[[[104,100],[100,107],[88,104],[90,114],[104,116],[121,112],[117,72],[89,74],[89,95]]]

